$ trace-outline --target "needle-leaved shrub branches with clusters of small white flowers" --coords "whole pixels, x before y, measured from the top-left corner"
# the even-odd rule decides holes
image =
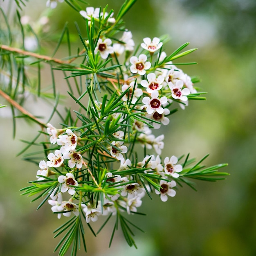
[[[18,0],[16,2],[19,3]],[[61,2],[64,1],[47,0],[46,5],[56,8]],[[110,217],[116,219],[110,245],[120,223],[127,243],[136,246],[129,227],[136,226],[126,215],[138,213],[146,195],[150,198],[153,194],[159,195],[159,199],[154,199],[166,202],[168,197],[176,195],[176,188],[182,183],[194,189],[189,178],[216,181],[227,175],[217,170],[226,164],[208,168],[202,165],[207,156],[194,163],[195,159],[189,159],[189,155],[176,157],[169,150],[163,153],[164,135],[155,137],[153,134],[155,129],[168,125],[171,115],[180,107],[187,107],[190,100],[204,99],[200,97],[203,92],[198,91],[195,85],[199,80],[185,74],[177,67],[179,63],[173,63],[195,49],[182,52],[189,45],[185,43],[173,53],[164,52],[166,37],[154,37],[152,40],[147,37],[135,47],[132,32],[124,27],[121,20],[135,0],[126,0],[117,15],[113,10],[108,13],[106,8],[83,9],[79,5],[82,0],[65,2],[86,25],[86,31],[77,27],[83,49],[76,55],[71,55],[69,39],[67,57],[57,59],[40,55],[40,40],[32,47],[25,43],[28,37],[24,31],[27,27],[31,31],[33,28],[19,13],[18,20],[23,29],[21,48],[11,47],[11,36],[9,39],[0,38],[2,66],[6,70],[13,66],[11,59],[4,58],[11,54],[15,64],[18,63],[18,70],[23,70],[23,73],[17,71],[18,82],[14,90],[7,81],[0,95],[22,112],[23,117],[35,121],[42,128],[25,148],[27,150],[36,144],[43,146],[42,156],[37,162],[39,170],[35,168],[38,170],[36,180],[29,182],[30,185],[22,191],[24,195],[38,194],[34,200],[43,200],[38,209],[48,202],[58,218],[62,215],[68,217],[67,222],[56,229],[56,236],[65,233],[55,249],[61,247],[59,255],[64,255],[70,246],[71,254],[76,255],[81,240],[86,250],[83,225],[87,223],[95,235],[90,224],[103,220],[100,231]],[[6,18],[4,11],[2,15]],[[47,23],[47,17],[45,20]],[[5,22],[8,28],[7,18]],[[46,33],[44,26],[45,23],[39,26],[39,37]],[[69,38],[67,27],[63,29],[54,54],[64,35]],[[19,57],[22,57],[20,62]],[[38,96],[41,96],[41,62],[49,64],[52,70],[69,73],[65,77],[68,95],[78,106],[74,111],[66,108],[66,116],[59,114],[55,106],[46,123],[27,112],[18,100],[31,86],[25,72],[28,64],[38,67],[37,88]],[[8,77],[10,73],[6,74]],[[25,90],[21,89],[22,86]],[[52,88],[53,97],[58,102],[54,79]],[[50,123],[54,112],[61,119],[58,127]],[[40,143],[35,142],[38,140]],[[32,158],[29,160],[35,162]]]

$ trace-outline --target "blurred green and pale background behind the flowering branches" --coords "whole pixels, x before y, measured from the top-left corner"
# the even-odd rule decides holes
[[[29,1],[22,15],[36,20],[46,9],[45,2]],[[109,4],[117,13],[123,1],[88,2],[94,7]],[[67,4],[58,4],[50,18],[52,34],[59,34],[67,19],[71,31],[74,20],[82,22]],[[167,128],[157,132],[166,137],[164,156],[190,153],[200,159],[210,153],[207,165],[229,163],[221,171],[231,175],[216,183],[197,182],[198,192],[184,187],[165,203],[156,196],[153,201],[144,198],[139,211],[147,216],[130,216],[145,231],[135,230],[138,249],[130,248],[121,232],[108,249],[111,224],[97,238],[86,229],[87,255],[256,255],[256,1],[138,0],[124,20],[135,43],[168,34],[167,54],[185,42],[198,48],[185,58],[198,64],[182,69],[200,76],[199,86],[208,92],[207,101],[190,102],[186,110],[171,117]],[[47,45],[48,53],[51,45]],[[4,103],[2,98],[0,103]],[[50,110],[33,97],[25,108],[37,115]],[[0,109],[0,255],[57,255],[53,249],[58,238],[53,239],[52,231],[61,221],[49,205],[36,211],[38,203],[30,203],[19,192],[38,169],[16,157],[24,147],[20,139],[33,138],[38,127],[18,120],[13,140],[8,111]]]

